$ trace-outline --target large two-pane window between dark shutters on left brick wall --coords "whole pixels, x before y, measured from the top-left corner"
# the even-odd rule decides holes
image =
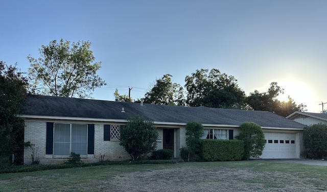
[[[54,155],[87,155],[87,125],[54,124]]]

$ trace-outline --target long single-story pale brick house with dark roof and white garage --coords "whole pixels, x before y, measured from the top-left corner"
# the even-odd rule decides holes
[[[40,163],[61,163],[70,152],[84,162],[129,159],[119,145],[120,128],[127,119],[142,115],[158,129],[157,149],[172,149],[180,157],[186,147],[185,125],[198,121],[204,139],[233,139],[240,125],[254,122],[263,128],[266,147],[261,158],[300,158],[304,125],[268,111],[181,107],[35,95],[20,116],[25,119],[25,141],[34,144]],[[31,148],[24,163],[32,162]]]

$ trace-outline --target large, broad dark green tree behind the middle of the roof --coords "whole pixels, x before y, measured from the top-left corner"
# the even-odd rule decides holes
[[[221,74],[218,69],[196,70],[185,77],[186,104],[215,108],[245,108],[245,93],[233,76]]]

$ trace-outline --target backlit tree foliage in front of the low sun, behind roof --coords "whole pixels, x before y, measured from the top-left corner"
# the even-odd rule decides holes
[[[267,92],[260,93],[258,90],[254,90],[246,98],[246,102],[254,110],[270,111],[284,117],[295,111],[305,111],[307,106],[302,103],[296,105],[290,96],[288,101],[279,101],[277,99],[279,94],[284,94],[284,89],[279,87],[276,82],[272,82]]]

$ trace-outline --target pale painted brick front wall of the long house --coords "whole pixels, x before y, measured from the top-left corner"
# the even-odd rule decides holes
[[[53,122],[53,121],[48,121]],[[55,122],[56,123],[56,122]],[[77,123],[77,122],[60,122],[60,123]],[[81,124],[81,122],[79,122]],[[85,123],[83,123],[85,124]],[[114,123],[105,123],[115,125]],[[100,160],[128,160],[130,155],[125,151],[123,146],[119,145],[119,139],[110,139],[110,141],[104,140],[104,124],[95,124],[95,140],[94,140],[94,155],[81,156],[83,162],[98,162]],[[158,128],[158,142],[157,149],[162,149],[162,128]],[[179,130],[179,129],[177,129]],[[176,131],[179,132],[179,131]],[[176,141],[179,142],[180,139]],[[25,142],[30,141],[33,144],[32,148],[24,149],[24,163],[31,164],[32,157],[34,154],[34,160],[38,159],[41,164],[60,164],[68,160],[68,157],[56,157],[53,155],[46,155],[46,122],[44,121],[32,121],[25,120]],[[176,143],[176,146],[180,146]],[[177,156],[179,156],[179,148],[176,148]]]

